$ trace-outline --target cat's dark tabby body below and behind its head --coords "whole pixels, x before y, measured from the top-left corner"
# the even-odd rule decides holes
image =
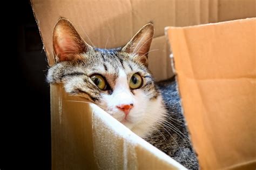
[[[188,169],[198,169],[197,157],[191,147],[181,111],[176,81],[172,78],[157,85],[163,96],[167,117],[165,123],[146,140]]]

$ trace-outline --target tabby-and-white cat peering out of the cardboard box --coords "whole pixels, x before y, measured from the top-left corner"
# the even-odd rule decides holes
[[[57,64],[48,70],[47,80],[63,84],[67,93],[98,105],[185,167],[196,169],[181,111],[172,118],[163,91],[147,69],[153,33],[148,23],[124,47],[98,49],[87,44],[68,19],[60,18],[53,28]],[[179,100],[177,105],[180,108]]]

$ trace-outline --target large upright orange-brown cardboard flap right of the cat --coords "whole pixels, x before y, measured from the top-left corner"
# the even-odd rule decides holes
[[[255,169],[256,18],[167,33],[201,169]]]

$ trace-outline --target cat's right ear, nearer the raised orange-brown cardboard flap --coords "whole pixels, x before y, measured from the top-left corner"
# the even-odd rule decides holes
[[[132,37],[122,51],[132,53],[136,56],[139,62],[147,66],[147,53],[150,50],[150,45],[154,35],[154,26],[152,23],[146,24],[141,28],[136,35]]]

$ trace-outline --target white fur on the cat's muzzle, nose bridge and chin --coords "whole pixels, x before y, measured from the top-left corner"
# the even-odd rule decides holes
[[[134,133],[140,137],[145,137],[165,117],[162,99],[159,96],[156,100],[150,100],[141,89],[133,90],[133,95],[129,87],[130,77],[126,75],[124,70],[119,69],[113,93],[103,95],[102,107]],[[124,112],[117,108],[118,105],[123,104],[133,104],[126,120]]]

